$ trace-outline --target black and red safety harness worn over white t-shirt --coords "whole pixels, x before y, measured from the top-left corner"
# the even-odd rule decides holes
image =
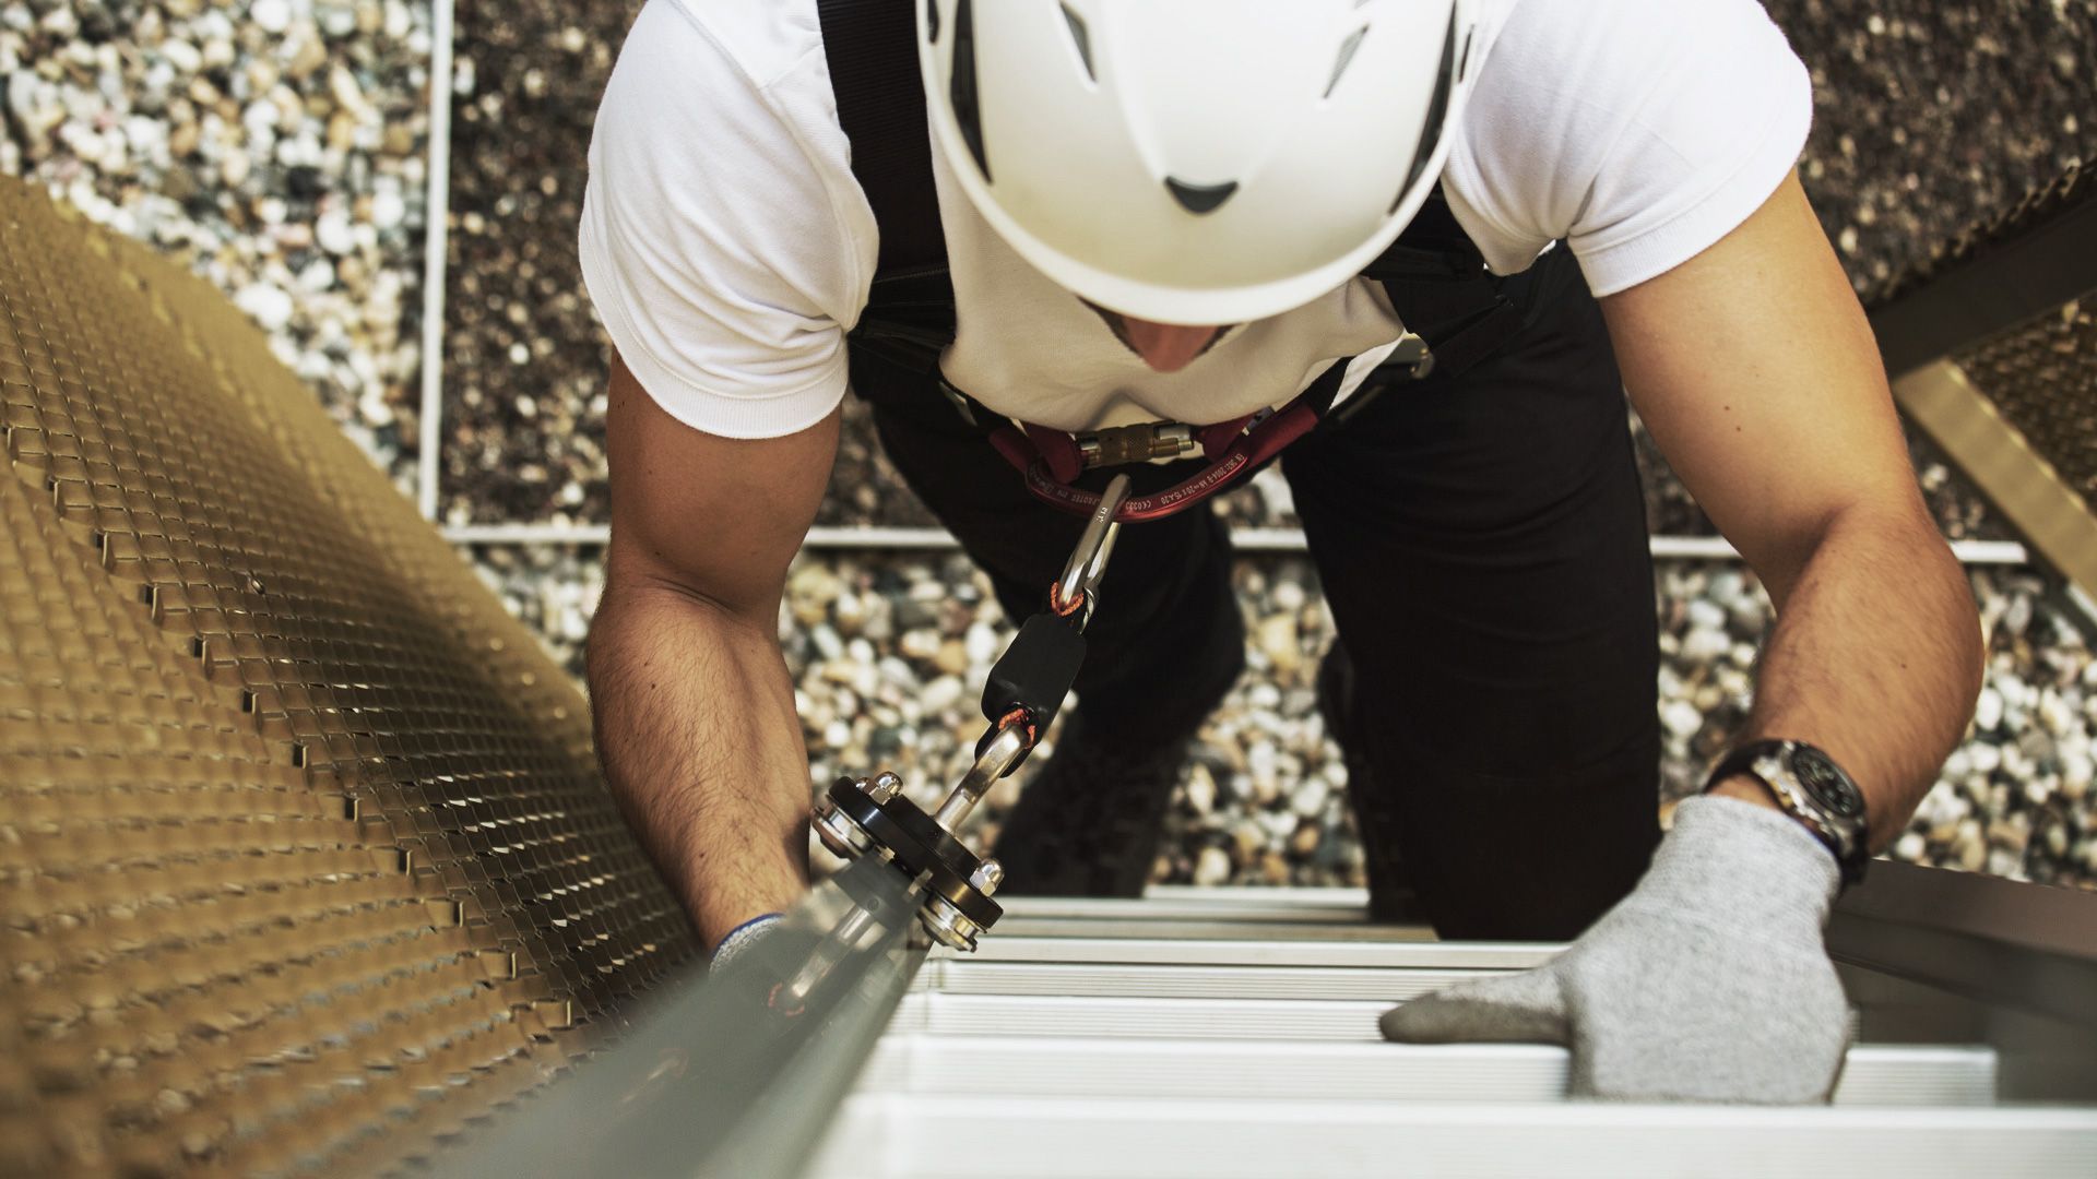
[[[1038,499],[1090,514],[1101,497],[1076,487],[1086,470],[1199,453],[1208,459],[1204,470],[1174,487],[1130,497],[1116,520],[1170,516],[1223,491],[1334,413],[1348,367],[1344,359],[1288,405],[1214,426],[1149,422],[1069,434],[1011,422],[948,384],[939,357],[954,342],[954,285],[931,174],[914,6],[908,0],[818,0],[816,10],[837,115],[851,143],[851,174],[866,191],[881,231],[872,290],[849,346],[937,382],[963,420],[986,432]],[[1342,403],[1340,417],[1359,411],[1386,384],[1470,369],[1506,346],[1529,319],[1525,294],[1533,285],[1510,287],[1485,269],[1483,254],[1449,212],[1441,189],[1361,275],[1384,283],[1411,331],[1363,392]]]

